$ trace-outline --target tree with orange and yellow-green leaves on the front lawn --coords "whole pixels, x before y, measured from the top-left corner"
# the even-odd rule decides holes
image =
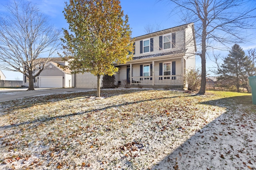
[[[118,71],[114,63],[132,59],[133,40],[120,0],[70,0],[64,16],[69,30],[64,29],[64,59],[73,73],[90,72],[97,76],[97,97],[100,97],[100,76]]]

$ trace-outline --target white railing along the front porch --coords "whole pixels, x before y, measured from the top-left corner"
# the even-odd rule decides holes
[[[154,79],[154,80],[153,80]],[[132,77],[130,81],[132,85],[169,85],[169,86],[182,86],[182,75],[169,75],[169,76],[148,76],[148,77]]]

